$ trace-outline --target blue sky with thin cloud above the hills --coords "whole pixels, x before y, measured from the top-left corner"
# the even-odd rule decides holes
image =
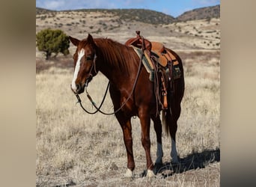
[[[216,4],[220,4],[220,0],[36,0],[36,7],[49,10],[143,8],[174,17],[180,16],[187,10]]]

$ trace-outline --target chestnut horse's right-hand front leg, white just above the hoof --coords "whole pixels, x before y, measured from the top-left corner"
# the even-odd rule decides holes
[[[141,143],[147,158],[147,177],[153,177],[153,162],[150,155],[150,115],[147,110],[141,109],[138,117],[141,121]]]

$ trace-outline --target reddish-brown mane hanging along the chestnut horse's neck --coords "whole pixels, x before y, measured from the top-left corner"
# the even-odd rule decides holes
[[[104,61],[108,62],[110,66],[118,68],[122,73],[129,75],[137,67],[135,64],[138,64],[138,56],[132,47],[109,38],[96,38],[94,42],[103,53]]]

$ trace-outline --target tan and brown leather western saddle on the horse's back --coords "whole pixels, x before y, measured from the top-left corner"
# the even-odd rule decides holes
[[[168,108],[167,89],[173,92],[173,80],[180,78],[180,68],[177,58],[162,43],[153,42],[140,35],[140,31],[135,31],[137,37],[130,38],[125,43],[126,46],[134,46],[144,52],[144,56],[149,63],[153,64],[156,70],[157,79],[161,79],[162,84],[157,85],[156,96],[162,105],[162,109]],[[168,84],[167,84],[168,83]],[[159,91],[162,94],[160,96]]]

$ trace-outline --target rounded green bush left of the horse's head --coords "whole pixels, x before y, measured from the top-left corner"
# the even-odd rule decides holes
[[[61,30],[51,30],[50,28],[44,29],[36,35],[36,45],[39,51],[45,52],[46,60],[55,53],[55,57],[61,52],[68,55],[70,52],[69,37]]]

